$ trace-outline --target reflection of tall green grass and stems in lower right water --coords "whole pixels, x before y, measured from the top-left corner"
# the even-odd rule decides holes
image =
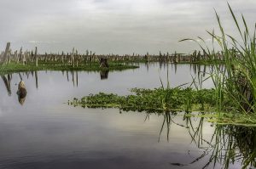
[[[151,113],[146,113],[145,121],[149,121]],[[180,113],[179,113],[180,114]],[[201,155],[195,157],[190,162],[172,161],[172,166],[191,166],[195,163],[201,164],[200,168],[252,168],[256,167],[256,127],[241,127],[232,125],[215,125],[214,132],[210,138],[206,138],[207,119],[204,116],[208,114],[202,112],[198,117],[183,113],[183,121],[176,121],[176,112],[163,112],[161,116],[164,120],[160,126],[158,142],[161,134],[166,130],[166,140],[169,142],[170,128],[174,125],[187,128],[187,132],[198,149],[201,149]],[[165,129],[166,127],[166,129]],[[189,155],[189,151],[188,151]],[[206,161],[206,162],[205,162]]]

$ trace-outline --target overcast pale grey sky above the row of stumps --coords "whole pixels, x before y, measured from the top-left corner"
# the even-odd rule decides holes
[[[256,0],[230,0],[234,13],[243,14],[254,29]],[[214,9],[224,29],[237,30],[224,0],[0,0],[0,50],[6,42],[17,50],[96,54],[191,53],[207,31],[218,33]]]

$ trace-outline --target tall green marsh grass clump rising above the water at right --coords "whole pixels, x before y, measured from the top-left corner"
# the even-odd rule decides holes
[[[230,4],[228,5],[230,8]],[[242,24],[239,24],[232,8],[230,8],[230,14],[241,39],[238,40],[224,31],[217,12],[216,17],[220,35],[216,35],[214,31],[207,31],[212,37],[212,46],[214,41],[218,42],[218,46],[222,50],[221,54],[224,57],[224,70],[221,65],[214,65],[211,73],[217,95],[215,102],[218,112],[221,112],[226,108],[224,96],[227,96],[234,103],[234,107],[232,107],[233,113],[252,115],[252,113],[255,113],[256,103],[256,24],[252,35],[242,14]],[[182,41],[185,40],[193,39],[183,39]],[[206,48],[202,47],[200,43],[198,44],[210,58],[218,57],[218,53],[215,52],[214,48],[213,51],[210,51],[207,44]]]

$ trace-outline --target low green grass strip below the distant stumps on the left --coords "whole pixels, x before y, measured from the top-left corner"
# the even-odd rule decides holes
[[[79,65],[78,67],[73,67],[72,65],[61,65],[58,63],[44,63],[39,62],[38,66],[28,64],[16,64],[10,63],[9,65],[1,65],[0,66],[0,74],[8,74],[8,73],[15,73],[15,72],[23,72],[23,71],[32,71],[32,70],[126,70],[126,69],[136,69],[138,66],[136,65],[126,65],[126,64],[119,64],[119,63],[109,63],[108,68],[100,68],[99,63],[90,63],[86,65]]]

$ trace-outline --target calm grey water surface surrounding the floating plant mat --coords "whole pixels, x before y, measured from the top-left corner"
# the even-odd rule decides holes
[[[223,140],[227,140],[230,135],[225,131],[247,128],[218,127],[204,118],[189,118],[183,113],[149,115],[65,104],[68,99],[90,93],[125,95],[132,87],[160,87],[160,77],[166,84],[167,69],[172,87],[191,82],[192,76],[207,77],[201,71],[211,70],[206,66],[199,70],[191,65],[155,64],[101,73],[38,71],[2,76],[0,168],[220,168],[230,164],[224,162],[230,144],[234,144],[236,159],[229,167],[241,168],[256,145],[254,128],[248,129],[251,135],[247,140],[242,140],[245,133],[241,132],[231,136],[230,144],[222,144],[217,138],[223,135],[214,137],[214,133],[224,133]],[[20,77],[27,88],[26,99],[21,100],[16,95]],[[210,88],[212,82],[207,80],[201,87]],[[247,147],[239,147],[241,142]],[[218,144],[223,147],[214,159],[212,153]],[[244,149],[248,152],[241,153]]]

